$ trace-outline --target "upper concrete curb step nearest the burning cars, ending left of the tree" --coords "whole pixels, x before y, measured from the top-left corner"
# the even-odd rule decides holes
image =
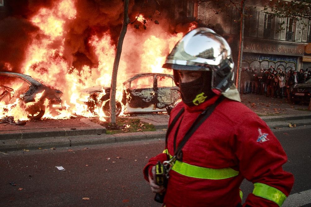
[[[87,118],[80,119],[90,127],[62,127],[62,128],[47,128],[47,129],[30,129],[30,130],[14,130],[0,131],[0,140],[12,139],[31,139],[31,138],[47,138],[47,137],[66,137],[79,135],[97,135],[105,134],[106,128]]]

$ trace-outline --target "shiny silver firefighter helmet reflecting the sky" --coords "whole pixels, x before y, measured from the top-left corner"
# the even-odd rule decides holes
[[[163,68],[189,71],[211,71],[211,89],[223,93],[232,86],[234,63],[224,38],[208,28],[197,28],[186,34],[166,58]],[[176,83],[179,82],[175,76]]]

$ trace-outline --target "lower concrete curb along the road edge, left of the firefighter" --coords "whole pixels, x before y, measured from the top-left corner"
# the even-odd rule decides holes
[[[80,145],[98,145],[116,142],[164,139],[166,131],[143,131],[124,134],[101,134],[67,137],[46,137],[33,139],[1,140],[0,151],[46,149],[52,147],[70,147]]]

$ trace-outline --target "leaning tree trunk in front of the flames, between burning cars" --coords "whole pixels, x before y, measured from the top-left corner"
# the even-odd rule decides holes
[[[113,125],[116,124],[116,91],[117,91],[118,67],[119,67],[119,62],[120,62],[120,57],[121,57],[121,52],[122,52],[123,40],[126,34],[126,30],[128,28],[128,24],[130,22],[128,18],[128,1],[129,0],[124,0],[123,24],[122,24],[121,33],[118,39],[117,51],[114,57],[114,67],[112,70],[112,78],[111,78],[111,91],[110,91],[109,106],[110,106],[110,123]]]

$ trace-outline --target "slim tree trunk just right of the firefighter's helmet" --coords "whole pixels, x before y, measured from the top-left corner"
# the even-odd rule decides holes
[[[246,0],[241,1],[241,28],[240,28],[240,46],[239,46],[239,59],[236,71],[236,86],[240,91],[241,82],[241,67],[242,67],[242,55],[243,55],[243,40],[244,40],[244,14],[245,14]]]

